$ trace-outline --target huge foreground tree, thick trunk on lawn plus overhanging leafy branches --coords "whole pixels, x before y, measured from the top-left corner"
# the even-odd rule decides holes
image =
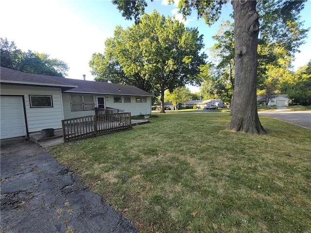
[[[145,1],[139,0],[139,2]],[[269,38],[267,41],[269,45],[281,44],[283,47],[286,47],[290,51],[287,55],[291,55],[291,52],[293,53],[297,46],[299,46],[299,43],[301,43],[301,40],[298,39],[295,41],[295,39],[303,38],[306,32],[296,30],[301,26],[301,24],[299,25],[297,23],[299,19],[297,13],[303,8],[304,1],[293,2],[291,0],[280,0],[273,1],[269,5],[269,1],[262,0],[258,4],[259,6],[262,3],[262,7],[256,8],[257,1],[231,1],[234,17],[235,74],[234,98],[231,101],[232,118],[227,127],[228,130],[235,132],[241,130],[244,133],[266,133],[259,121],[256,103],[257,48],[261,44],[259,37],[260,17],[258,12],[271,12],[270,17],[267,15],[263,18],[264,22],[270,23],[267,24],[267,27],[262,28],[261,34],[263,38]],[[198,17],[204,18],[207,25],[210,25],[218,19],[222,6],[225,3],[226,0],[180,0],[178,7],[180,9],[179,12],[184,17],[190,16],[191,11],[195,10]],[[118,2],[115,2],[115,4],[120,5]],[[124,9],[122,10],[126,15],[134,15],[137,12],[129,8],[126,11]],[[279,18],[274,18],[273,16]],[[276,30],[275,32],[277,33],[274,36],[267,33],[274,32],[273,30]],[[268,59],[269,54],[263,54],[263,57]]]

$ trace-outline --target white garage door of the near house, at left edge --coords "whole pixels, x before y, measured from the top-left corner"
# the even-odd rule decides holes
[[[23,100],[19,96],[1,96],[1,139],[26,136]]]

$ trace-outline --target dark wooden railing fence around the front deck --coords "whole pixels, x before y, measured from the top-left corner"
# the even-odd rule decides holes
[[[131,113],[82,116],[62,120],[64,142],[132,129]]]

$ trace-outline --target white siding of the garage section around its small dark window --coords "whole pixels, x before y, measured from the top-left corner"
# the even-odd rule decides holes
[[[37,132],[46,128],[62,128],[63,110],[59,88],[2,85],[1,95],[23,95],[25,99],[28,132]],[[30,108],[29,95],[52,96],[53,107]]]

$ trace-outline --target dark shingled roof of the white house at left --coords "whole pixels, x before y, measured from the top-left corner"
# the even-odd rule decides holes
[[[62,90],[69,93],[153,96],[152,94],[132,85],[68,79],[39,74],[27,74],[4,67],[1,67],[0,77],[1,83],[67,87]]]

